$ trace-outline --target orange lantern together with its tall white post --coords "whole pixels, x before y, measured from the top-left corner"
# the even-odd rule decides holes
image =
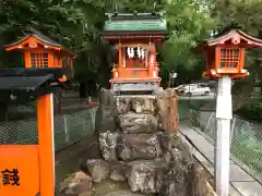
[[[229,194],[230,125],[233,119],[231,78],[249,75],[245,69],[245,50],[262,47],[262,40],[229,27],[218,36],[200,44],[204,51],[204,77],[218,78],[216,94],[215,191],[218,196]]]

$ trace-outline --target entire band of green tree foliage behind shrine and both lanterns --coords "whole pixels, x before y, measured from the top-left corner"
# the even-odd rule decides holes
[[[262,38],[259,0],[0,0],[0,66],[23,66],[22,57],[5,52],[3,46],[33,27],[78,53],[76,79],[106,85],[114,52],[99,34],[105,12],[152,12],[154,8],[166,11],[170,33],[158,50],[164,83],[169,71],[179,72],[181,79],[201,77],[204,61],[191,48],[209,38],[211,30],[233,23]],[[246,60],[251,72],[261,73],[258,57],[261,50],[247,52]]]

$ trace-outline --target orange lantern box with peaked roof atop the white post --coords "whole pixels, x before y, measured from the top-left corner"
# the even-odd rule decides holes
[[[229,75],[231,78],[246,77],[245,50],[262,47],[262,40],[252,37],[240,29],[229,29],[223,34],[201,42],[195,51],[205,52],[206,78],[222,78]]]

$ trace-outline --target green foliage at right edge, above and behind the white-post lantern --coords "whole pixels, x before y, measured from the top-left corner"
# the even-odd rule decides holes
[[[262,3],[260,0],[238,0],[238,1],[225,1],[225,0],[215,0],[211,3],[211,11],[213,17],[217,21],[217,29],[222,32],[225,27],[237,26],[240,27],[246,33],[262,38]],[[252,89],[257,84],[255,81],[261,81],[262,78],[262,66],[260,57],[262,54],[262,49],[252,49],[246,52],[246,62],[245,66],[250,72],[250,75],[243,79],[236,81],[233,93],[236,97],[240,96],[240,99],[243,103],[241,107],[241,114],[245,117],[261,117],[259,111],[261,111],[259,103],[252,103],[250,106],[245,106],[249,102],[252,93]],[[261,86],[261,82],[259,84]],[[250,90],[251,89],[251,90]],[[248,95],[247,95],[248,93]],[[240,100],[239,99],[239,100]],[[237,102],[238,100],[236,100]],[[253,113],[253,114],[252,114]],[[257,114],[255,114],[257,113]],[[250,115],[249,115],[250,114]],[[253,118],[252,118],[253,119]]]

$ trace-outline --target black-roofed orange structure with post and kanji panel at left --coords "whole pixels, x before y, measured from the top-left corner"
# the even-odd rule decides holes
[[[5,82],[0,85],[0,94],[9,91],[17,99],[37,99],[38,135],[38,140],[0,139],[0,195],[55,196],[52,91],[53,83],[62,85],[59,78],[63,70],[1,69],[0,73],[0,81]],[[9,99],[4,101],[8,103]],[[23,128],[17,131],[23,134]]]

